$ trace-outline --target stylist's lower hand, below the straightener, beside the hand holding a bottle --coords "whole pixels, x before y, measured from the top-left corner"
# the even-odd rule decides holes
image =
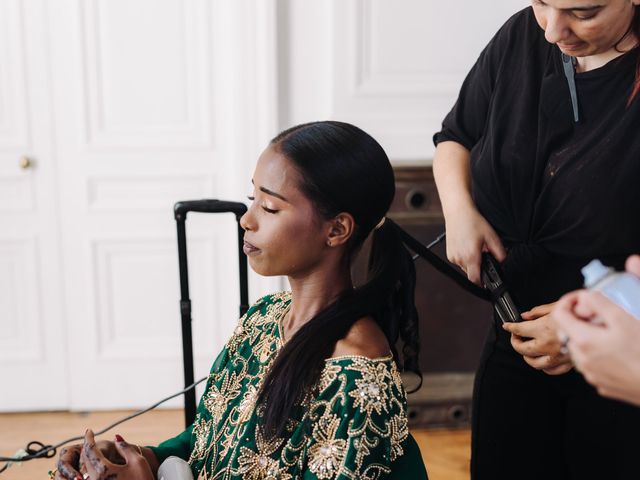
[[[560,351],[562,345],[556,324],[550,316],[556,303],[539,305],[524,312],[522,322],[502,325],[511,333],[511,345],[524,361],[549,375],[561,375],[573,367],[571,357]]]

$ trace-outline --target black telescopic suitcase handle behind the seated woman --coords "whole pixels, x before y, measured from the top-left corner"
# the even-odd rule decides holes
[[[184,363],[184,385],[191,385],[193,379],[193,341],[191,337],[191,300],[189,299],[189,271],[187,266],[186,220],[189,212],[233,213],[236,216],[238,234],[238,266],[240,268],[240,316],[249,309],[249,285],[247,278],[247,257],[242,251],[244,231],[240,227],[240,217],[247,206],[240,202],[224,200],[186,200],[173,207],[178,229],[178,261],[180,264],[180,315],[182,317],[182,358]],[[196,391],[192,388],[184,394],[184,420],[189,427],[196,417]]]

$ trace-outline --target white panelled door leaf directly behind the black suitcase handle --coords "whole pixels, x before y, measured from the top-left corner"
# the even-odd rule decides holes
[[[143,406],[182,385],[172,206],[244,198],[259,153],[237,147],[236,125],[253,125],[234,103],[237,8],[60,0],[49,12],[73,409]],[[187,231],[203,375],[238,316],[236,225],[191,214]]]

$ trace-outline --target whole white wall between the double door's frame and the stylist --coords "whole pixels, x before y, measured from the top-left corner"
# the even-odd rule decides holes
[[[285,0],[281,125],[349,121],[396,163],[429,163],[466,72],[526,0]]]

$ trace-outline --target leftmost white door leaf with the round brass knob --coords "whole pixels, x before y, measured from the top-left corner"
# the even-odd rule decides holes
[[[67,405],[46,24],[0,2],[0,409]]]

